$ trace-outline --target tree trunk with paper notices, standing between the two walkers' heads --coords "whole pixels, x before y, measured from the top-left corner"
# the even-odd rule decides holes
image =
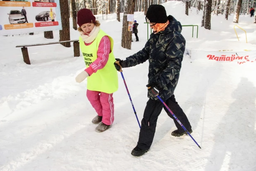
[[[134,8],[135,0],[125,0],[121,46],[127,49],[131,49],[132,44],[132,32],[128,31],[127,14],[134,14]]]

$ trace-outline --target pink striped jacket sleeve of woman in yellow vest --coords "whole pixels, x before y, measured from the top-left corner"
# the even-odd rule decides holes
[[[104,36],[99,42],[97,59],[92,64],[90,64],[89,67],[85,69],[85,71],[89,75],[92,75],[93,73],[97,72],[97,70],[104,68],[104,66],[109,60],[109,53],[111,53],[110,40],[108,36]]]

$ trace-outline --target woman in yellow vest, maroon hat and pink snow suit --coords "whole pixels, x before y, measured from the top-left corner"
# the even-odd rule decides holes
[[[113,53],[113,39],[100,29],[92,11],[82,9],[77,12],[79,43],[86,69],[75,78],[82,82],[87,78],[87,98],[97,112],[92,123],[99,124],[97,132],[103,132],[114,122],[113,93],[118,89],[116,61]],[[89,113],[88,113],[89,114]]]

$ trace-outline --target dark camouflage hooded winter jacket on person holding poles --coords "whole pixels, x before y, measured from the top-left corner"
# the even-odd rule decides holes
[[[148,83],[157,83],[159,96],[163,100],[174,94],[186,44],[181,35],[181,23],[171,15],[168,16],[168,20],[170,24],[164,31],[152,33],[141,51],[126,58],[127,67],[149,60]],[[147,96],[158,99],[150,97],[149,94]]]

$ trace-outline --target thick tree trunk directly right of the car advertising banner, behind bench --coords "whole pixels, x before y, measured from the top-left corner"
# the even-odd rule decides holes
[[[68,1],[60,0],[60,15],[62,30],[60,30],[60,41],[70,40],[70,28],[69,28],[69,17],[68,17]],[[65,47],[70,47],[70,42],[61,43]]]

